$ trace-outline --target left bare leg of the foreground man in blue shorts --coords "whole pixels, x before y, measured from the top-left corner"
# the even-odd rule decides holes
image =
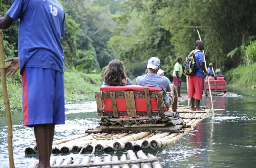
[[[49,124],[34,126],[36,144],[38,148],[39,164],[38,168],[50,168],[49,157]]]

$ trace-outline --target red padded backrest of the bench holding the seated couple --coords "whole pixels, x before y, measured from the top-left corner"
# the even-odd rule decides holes
[[[149,88],[149,91],[162,91],[161,87],[151,87],[151,86],[138,86],[138,85],[126,85],[126,86],[101,86],[100,91],[142,91],[144,88]],[[103,98],[104,101],[104,111],[113,111],[111,98]],[[158,111],[157,99],[156,97],[150,98],[151,110]],[[145,98],[135,98],[136,111],[147,111],[146,99]],[[125,98],[116,98],[116,107],[118,112],[127,111]]]

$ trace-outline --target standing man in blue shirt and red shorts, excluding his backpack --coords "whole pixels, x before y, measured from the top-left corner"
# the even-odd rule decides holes
[[[188,98],[191,98],[191,108],[190,110],[203,111],[200,108],[200,100],[203,96],[204,90],[204,75],[208,75],[208,72],[204,66],[204,42],[197,40],[196,41],[196,49],[192,52],[200,50],[195,53],[196,66],[199,68],[194,76],[188,76]],[[192,52],[188,55],[190,56]],[[196,108],[195,108],[195,100],[196,100]]]

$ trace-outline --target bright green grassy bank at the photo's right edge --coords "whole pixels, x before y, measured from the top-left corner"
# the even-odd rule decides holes
[[[230,86],[251,87],[256,85],[256,63],[248,66],[239,65],[229,70],[225,76]]]

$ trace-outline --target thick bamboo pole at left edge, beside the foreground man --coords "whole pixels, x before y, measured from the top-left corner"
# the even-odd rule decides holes
[[[7,121],[7,134],[8,134],[8,153],[9,153],[9,163],[10,168],[14,168],[13,160],[13,149],[12,149],[12,117],[10,110],[10,103],[8,98],[7,86],[6,86],[6,74],[5,74],[5,63],[4,63],[4,41],[3,41],[3,31],[0,29],[0,62],[1,62],[1,79],[2,79],[2,88],[4,95],[4,106],[6,112],[6,121]]]

